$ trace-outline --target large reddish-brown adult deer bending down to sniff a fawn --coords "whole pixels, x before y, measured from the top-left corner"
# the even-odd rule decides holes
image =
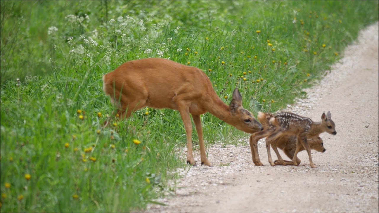
[[[242,107],[242,97],[235,88],[226,105],[217,96],[208,76],[200,69],[167,60],[145,58],[128,61],[103,76],[103,90],[116,105],[117,114],[128,118],[143,108],[178,110],[187,137],[187,163],[196,166],[192,153],[191,117],[199,136],[201,164],[210,166],[205,153],[200,115],[207,111],[227,124],[247,133],[262,130],[252,113]]]

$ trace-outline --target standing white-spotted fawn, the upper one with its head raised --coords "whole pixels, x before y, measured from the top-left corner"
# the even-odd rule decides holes
[[[308,117],[302,117],[298,114],[289,112],[280,112],[276,114],[258,112],[258,120],[263,125],[263,130],[256,132],[250,136],[250,148],[252,151],[254,164],[257,166],[263,165],[259,160],[257,144],[259,139],[266,137],[268,161],[271,166],[275,165],[270,153],[271,141],[273,141],[271,146],[273,147],[278,160],[282,165],[286,165],[285,161],[282,159],[277,150],[276,139],[285,135],[295,135],[297,137],[297,142],[296,150],[292,158],[293,164],[295,166],[298,166],[298,163],[296,162],[297,154],[301,149],[301,146],[304,146],[305,150],[308,152],[310,166],[312,168],[316,168],[315,164],[313,164],[312,161],[310,147],[307,139],[316,138],[323,132],[327,132],[332,135],[337,134],[335,131],[334,121],[332,121],[331,117],[332,115],[328,111],[326,115],[325,113],[321,115],[321,122],[313,122]]]

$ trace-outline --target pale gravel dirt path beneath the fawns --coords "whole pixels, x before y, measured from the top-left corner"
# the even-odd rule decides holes
[[[362,31],[307,99],[288,111],[321,120],[330,111],[337,135],[321,134],[326,152],[300,152],[300,166],[270,166],[264,141],[258,151],[264,166],[254,166],[250,147],[209,147],[214,167],[197,166],[177,183],[176,194],[150,205],[149,212],[378,212],[378,23]],[[247,142],[248,143],[248,142]],[[281,150],[280,150],[281,151]],[[181,150],[185,157],[186,150]],[[280,152],[286,159],[287,157]],[[271,151],[273,158],[276,155]],[[199,162],[199,153],[194,152]]]

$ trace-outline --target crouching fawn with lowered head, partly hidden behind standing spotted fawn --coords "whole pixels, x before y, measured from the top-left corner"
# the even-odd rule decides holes
[[[276,141],[276,145],[279,149],[283,150],[283,152],[289,157],[290,159],[293,158],[295,150],[296,150],[296,141],[297,137],[294,135],[285,135],[281,138],[278,138]],[[271,143],[273,143],[271,141]],[[324,148],[324,141],[320,137],[308,139],[308,144],[310,146],[310,149],[314,149],[318,152],[325,152],[326,149]],[[301,146],[299,152],[304,151],[304,146]],[[293,165],[292,161],[284,160],[286,165]],[[296,157],[296,163],[300,165],[301,160]],[[279,160],[274,161],[275,165],[282,165]]]

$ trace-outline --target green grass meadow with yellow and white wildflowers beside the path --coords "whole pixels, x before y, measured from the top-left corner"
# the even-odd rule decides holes
[[[172,190],[188,166],[177,111],[145,108],[102,128],[113,110],[102,75],[125,61],[199,67],[228,104],[238,86],[256,115],[305,96],[378,20],[378,1],[0,4],[2,212],[128,212]],[[248,136],[210,113],[202,122],[207,146]]]

